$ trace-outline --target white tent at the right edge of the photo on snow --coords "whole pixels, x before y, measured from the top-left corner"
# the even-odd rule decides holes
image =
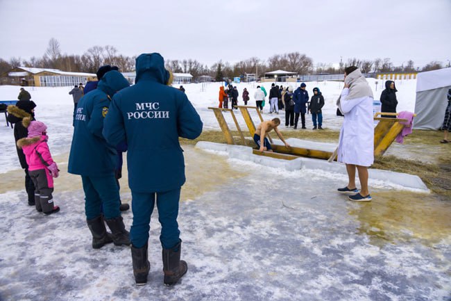
[[[451,68],[418,73],[414,129],[439,129],[443,124],[451,88]]]

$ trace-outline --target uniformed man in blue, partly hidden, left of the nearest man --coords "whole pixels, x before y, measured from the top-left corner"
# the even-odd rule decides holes
[[[128,86],[128,81],[121,73],[115,70],[105,73],[97,89],[80,99],[74,115],[68,171],[81,175],[87,225],[95,249],[105,243],[130,245],[129,234],[119,211],[119,188],[114,177],[116,145],[109,145],[102,136],[103,120],[108,113],[110,99],[117,91]],[[112,235],[105,229],[101,204]]]

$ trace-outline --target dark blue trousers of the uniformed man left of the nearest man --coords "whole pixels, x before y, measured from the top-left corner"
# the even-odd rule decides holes
[[[114,172],[101,177],[81,176],[85,191],[85,213],[88,220],[101,215],[101,206],[105,219],[117,218],[119,211],[119,188]]]

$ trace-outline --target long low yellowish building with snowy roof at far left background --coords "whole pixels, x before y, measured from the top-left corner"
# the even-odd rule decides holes
[[[58,69],[33,67],[15,67],[3,74],[1,83],[36,87],[69,87],[79,83],[83,85],[96,78],[96,74],[83,72],[65,72]]]

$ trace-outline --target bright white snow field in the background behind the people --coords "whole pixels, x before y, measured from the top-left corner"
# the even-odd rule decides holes
[[[375,99],[379,99],[380,93],[383,90],[383,81],[377,81],[375,84],[375,79],[368,79],[371,87],[373,88],[373,93]],[[279,83],[280,84],[280,83]],[[269,92],[271,89],[271,83],[237,83],[237,89],[239,91],[239,105],[244,105],[241,98],[241,92],[244,88],[250,93],[250,101],[248,105],[255,106],[255,99],[253,98],[254,92],[257,85],[263,85],[266,91]],[[284,83],[282,83],[284,85]],[[178,88],[178,84],[174,84],[174,87]],[[209,106],[218,106],[218,95],[219,86],[221,83],[192,83],[183,84],[185,92],[190,101],[196,107],[199,115],[201,115],[204,129],[216,129],[219,130],[218,122],[216,117],[211,110],[208,109]],[[296,83],[297,88],[300,83]],[[336,81],[312,81],[307,82],[307,90],[309,95],[312,95],[313,88],[318,87],[325,98],[325,106],[323,108],[323,127],[328,129],[339,129],[341,127],[342,117],[337,117],[335,113],[337,112],[337,106],[335,102],[339,97],[341,89],[343,89],[343,83]],[[397,81],[396,88],[398,88],[398,111],[414,111],[415,108],[415,88],[416,79],[408,81]],[[33,101],[37,104],[35,108],[35,115],[38,120],[45,122],[47,127],[49,127],[49,146],[52,154],[64,154],[69,151],[71,138],[72,138],[72,125],[71,116],[73,110],[73,101],[69,91],[71,87],[60,87],[60,88],[40,88],[40,87],[28,87],[26,88],[31,93]],[[17,86],[0,86],[0,100],[12,100],[17,99],[19,95],[19,87]],[[267,97],[266,97],[267,98]],[[269,104],[264,107],[264,119],[269,120],[275,115],[269,115]],[[224,114],[226,120],[228,120],[229,127],[231,129],[236,129],[235,124],[232,120],[230,114]],[[256,113],[251,112],[254,120],[258,120]],[[282,124],[284,122],[284,112],[280,111],[278,115],[282,119]],[[306,115],[307,128],[311,128],[312,120],[310,115]],[[15,153],[15,143],[14,138],[11,135],[11,129],[7,127],[2,127],[1,125],[6,125],[4,123],[4,117],[0,116],[0,135],[2,139],[0,140],[0,166],[1,172],[7,172],[8,170],[13,170],[18,166],[17,154]],[[239,121],[239,126],[241,129],[246,129],[246,124],[243,118],[238,114],[237,120]],[[285,129],[282,127],[282,131]]]

